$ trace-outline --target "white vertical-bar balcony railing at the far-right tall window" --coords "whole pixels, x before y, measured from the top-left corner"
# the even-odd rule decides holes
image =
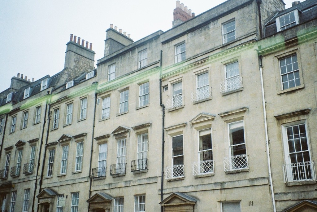
[[[315,162],[299,162],[284,164],[284,179],[285,182],[302,182],[302,181],[315,181]]]

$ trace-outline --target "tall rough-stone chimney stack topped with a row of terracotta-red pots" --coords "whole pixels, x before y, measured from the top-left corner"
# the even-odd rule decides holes
[[[80,37],[70,35],[69,42],[66,44],[64,68],[71,68],[79,72],[94,69],[95,52],[92,50],[92,43],[88,48],[89,42],[86,41],[86,47],[84,42],[84,39],[81,40]]]

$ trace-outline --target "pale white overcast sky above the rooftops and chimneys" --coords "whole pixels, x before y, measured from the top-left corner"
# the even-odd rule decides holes
[[[197,16],[224,1],[180,3]],[[284,2],[288,8],[294,0]],[[175,6],[176,0],[0,0],[0,92],[18,72],[37,80],[61,71],[70,34],[93,43],[97,61],[111,23],[137,41],[170,29]]]

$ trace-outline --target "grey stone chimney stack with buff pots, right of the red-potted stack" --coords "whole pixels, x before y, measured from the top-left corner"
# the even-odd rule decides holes
[[[110,55],[127,45],[133,43],[130,38],[130,34],[126,35],[126,32],[122,33],[122,30],[115,26],[113,29],[113,24],[110,24],[110,28],[106,30],[107,36],[105,40],[105,53],[104,56]]]

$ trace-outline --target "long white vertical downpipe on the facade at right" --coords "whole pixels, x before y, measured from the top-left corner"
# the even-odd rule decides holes
[[[273,209],[274,209],[274,212],[276,212],[275,197],[274,197],[274,191],[273,191],[272,173],[271,173],[270,148],[269,148],[269,146],[268,146],[268,123],[267,123],[267,117],[266,117],[264,85],[263,85],[262,56],[259,56],[259,68],[260,68],[261,86],[262,86],[262,101],[263,101],[263,114],[264,114],[266,152],[267,152],[267,154],[268,154],[268,175],[269,175],[269,181],[270,181],[270,186],[271,186]]]

